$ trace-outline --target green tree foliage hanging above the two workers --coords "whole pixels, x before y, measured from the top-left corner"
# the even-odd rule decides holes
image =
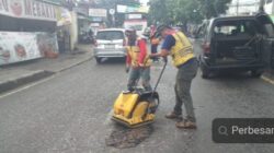
[[[222,14],[231,0],[150,0],[150,23],[199,23]]]

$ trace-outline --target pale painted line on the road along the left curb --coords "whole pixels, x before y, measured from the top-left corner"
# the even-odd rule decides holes
[[[34,82],[34,83],[30,83],[28,85],[24,85],[23,87],[20,87],[20,89],[18,89],[18,90],[14,90],[14,91],[4,93],[4,94],[0,95],[0,98],[7,97],[7,96],[9,96],[9,95],[13,95],[13,94],[15,94],[15,93],[22,92],[22,91],[27,90],[27,89],[30,89],[30,87],[33,87],[33,86],[35,86],[35,85],[45,83],[45,82],[52,80],[52,79],[55,78],[55,76],[56,76],[56,74],[54,74],[54,75],[52,75],[52,76],[49,76],[49,78],[43,79],[43,80],[41,80],[41,81],[36,81],[36,82]]]

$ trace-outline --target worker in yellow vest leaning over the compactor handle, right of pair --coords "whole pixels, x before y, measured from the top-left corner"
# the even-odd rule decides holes
[[[196,118],[191,96],[191,84],[197,73],[198,63],[193,51],[193,46],[182,32],[176,32],[168,25],[161,25],[157,31],[164,40],[161,51],[152,54],[150,57],[163,57],[167,59],[170,55],[173,64],[178,68],[174,86],[176,103],[173,111],[165,115],[165,117],[169,119],[182,118],[175,125],[178,128],[195,129]],[[186,118],[182,116],[182,105],[185,107]]]

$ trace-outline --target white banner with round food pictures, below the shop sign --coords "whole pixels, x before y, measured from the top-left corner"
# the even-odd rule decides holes
[[[0,32],[0,66],[44,57],[58,51],[56,34]]]

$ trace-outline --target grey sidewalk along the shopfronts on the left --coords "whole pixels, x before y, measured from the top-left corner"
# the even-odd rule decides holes
[[[92,58],[91,45],[78,45],[77,50],[56,59],[35,59],[0,67],[0,93],[65,71]]]

